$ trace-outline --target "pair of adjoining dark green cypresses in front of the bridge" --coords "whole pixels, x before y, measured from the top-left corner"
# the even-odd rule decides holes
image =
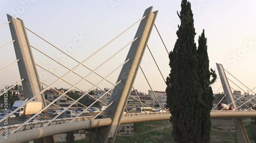
[[[213,101],[210,84],[217,75],[214,70],[209,71],[204,31],[197,49],[193,13],[187,0],[182,1],[178,16],[181,24],[174,49],[169,53],[171,70],[166,79],[166,103],[172,113],[173,137],[176,142],[209,142]]]

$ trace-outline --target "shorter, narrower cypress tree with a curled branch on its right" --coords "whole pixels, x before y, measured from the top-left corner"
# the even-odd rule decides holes
[[[214,97],[212,96],[212,89],[210,87],[211,83],[214,83],[217,75],[215,71],[211,69],[209,71],[209,58],[207,53],[207,38],[205,38],[204,30],[201,36],[198,38],[198,77],[199,77],[199,95],[202,99],[202,133],[201,142],[210,142],[210,110],[212,109],[212,101]],[[210,81],[210,75],[212,75],[212,80]]]

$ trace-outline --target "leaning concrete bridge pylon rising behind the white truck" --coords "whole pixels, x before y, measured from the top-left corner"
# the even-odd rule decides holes
[[[32,98],[42,89],[30,43],[28,40],[26,28],[23,20],[13,18],[10,15],[7,15],[7,17],[8,20],[11,21],[9,23],[9,26],[12,39],[15,40],[15,42],[13,42],[13,45],[16,53],[16,58],[20,60],[17,62],[19,75],[21,79],[25,78],[22,81],[25,98]],[[43,93],[41,94],[41,96],[35,98],[35,100],[42,102],[43,106],[46,106],[45,96]]]

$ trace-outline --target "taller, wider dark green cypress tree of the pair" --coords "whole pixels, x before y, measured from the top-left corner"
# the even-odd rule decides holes
[[[202,133],[202,99],[198,92],[198,59],[191,4],[181,2],[177,12],[177,41],[169,53],[169,77],[166,79],[167,106],[170,108],[173,137],[176,142],[200,142]]]

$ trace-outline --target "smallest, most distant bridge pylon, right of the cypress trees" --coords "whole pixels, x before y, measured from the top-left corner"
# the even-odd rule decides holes
[[[229,86],[224,68],[221,64],[216,63],[216,65],[218,67],[218,72],[219,72],[219,75],[220,75],[220,78],[221,78],[221,83],[223,84],[224,93],[227,94],[227,96],[226,96],[227,103],[232,103],[230,105],[233,106],[236,109],[237,104],[236,104],[236,102],[234,102],[233,94],[232,94],[232,91],[230,89],[230,86]],[[250,140],[249,140],[248,135],[246,133],[244,124],[242,122],[242,119],[241,118],[232,118],[232,121],[233,121],[234,125],[236,127],[238,127],[237,128],[237,137],[238,137],[239,142],[240,143],[249,143]]]

